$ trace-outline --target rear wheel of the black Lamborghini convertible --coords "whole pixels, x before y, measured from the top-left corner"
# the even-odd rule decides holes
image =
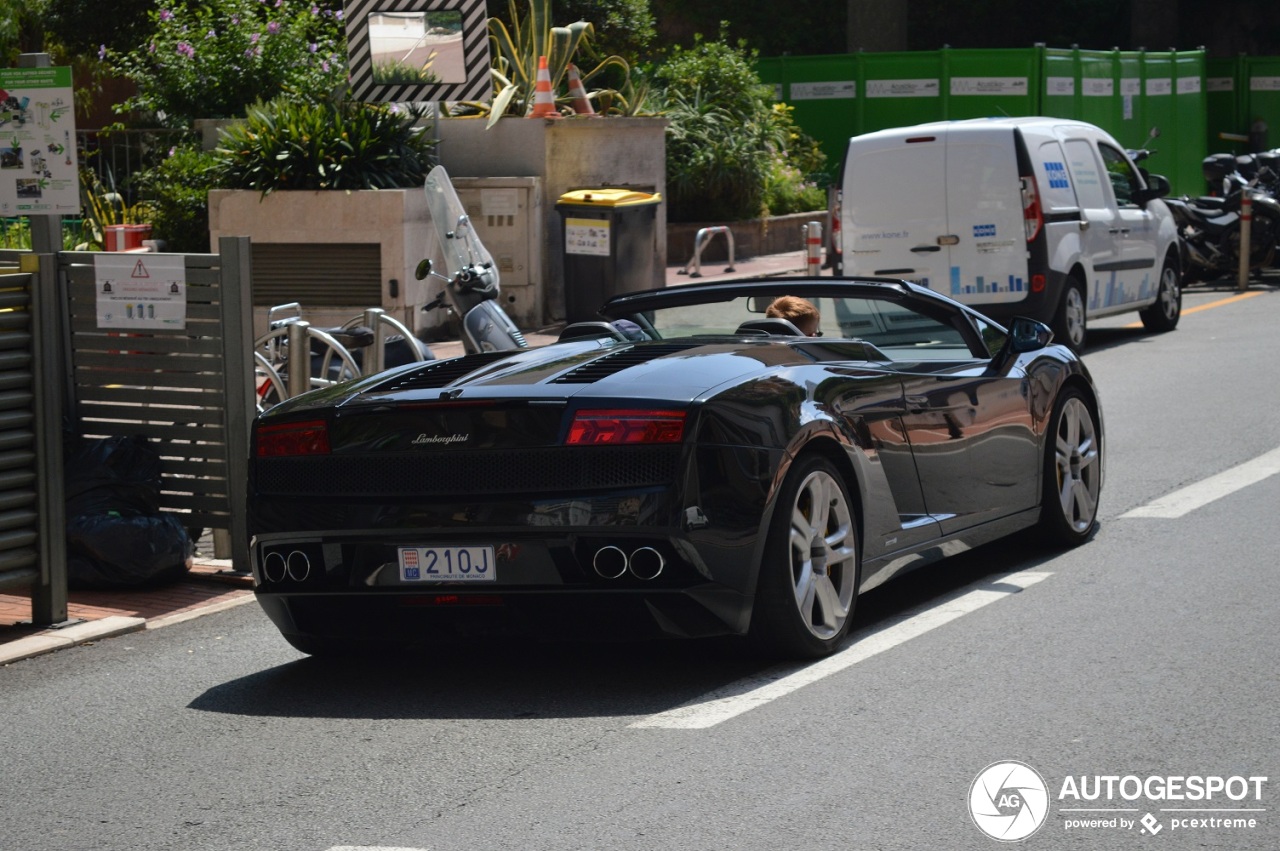
[[[836,467],[795,462],[764,545],[751,639],[769,655],[824,656],[849,633],[861,581],[858,513]]]

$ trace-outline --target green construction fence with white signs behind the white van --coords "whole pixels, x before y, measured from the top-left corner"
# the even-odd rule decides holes
[[[1275,56],[1034,46],[778,56],[756,60],[756,70],[819,142],[832,177],[851,136],[964,118],[1052,115],[1096,124],[1125,147],[1155,151],[1143,165],[1187,195],[1204,191],[1201,161],[1208,154],[1280,145]],[[1152,128],[1158,138],[1149,139]]]

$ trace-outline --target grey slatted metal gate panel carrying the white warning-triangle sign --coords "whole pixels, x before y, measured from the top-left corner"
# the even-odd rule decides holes
[[[218,555],[247,571],[250,242],[227,237],[219,248],[180,255],[186,328],[155,331],[99,328],[95,252],[59,253],[69,331],[64,386],[73,434],[147,438],[163,462],[161,511],[182,514],[192,529],[225,531],[229,553]]]

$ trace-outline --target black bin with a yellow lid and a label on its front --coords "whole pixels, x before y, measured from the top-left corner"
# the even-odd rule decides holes
[[[611,297],[653,288],[662,196],[634,189],[576,189],[559,197],[564,246],[564,319],[596,317]]]

